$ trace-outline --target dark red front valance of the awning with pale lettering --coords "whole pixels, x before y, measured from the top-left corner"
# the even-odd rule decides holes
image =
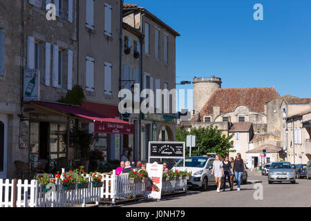
[[[95,122],[94,133],[133,134],[133,124]]]

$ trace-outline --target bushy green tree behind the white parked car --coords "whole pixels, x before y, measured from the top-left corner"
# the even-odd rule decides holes
[[[217,153],[222,156],[229,155],[229,153],[235,152],[231,150],[234,147],[234,136],[223,135],[222,131],[218,129],[218,126],[207,126],[194,128],[191,127],[190,131],[177,129],[176,140],[178,142],[187,142],[187,135],[196,135],[196,147],[191,148],[191,155],[197,156],[198,147],[200,147],[200,155],[206,153]],[[186,155],[189,156],[189,147],[186,146]]]

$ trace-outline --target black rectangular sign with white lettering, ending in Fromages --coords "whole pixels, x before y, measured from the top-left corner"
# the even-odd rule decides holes
[[[149,142],[149,158],[183,158],[184,142]]]

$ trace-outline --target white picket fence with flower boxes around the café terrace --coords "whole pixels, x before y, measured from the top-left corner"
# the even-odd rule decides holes
[[[91,179],[90,179],[91,180]],[[145,183],[131,184],[129,174],[116,175],[115,170],[110,174],[103,174],[102,187],[88,184],[86,189],[64,190],[59,180],[55,184],[55,191],[50,194],[44,192],[44,187],[37,180],[17,180],[14,191],[13,180],[0,180],[0,207],[64,207],[86,206],[87,203],[99,204],[102,199],[115,200],[137,198],[144,196]],[[178,190],[187,191],[187,180],[163,180],[162,193],[174,193]],[[16,193],[16,199],[14,192]],[[16,202],[16,205],[14,205]]]

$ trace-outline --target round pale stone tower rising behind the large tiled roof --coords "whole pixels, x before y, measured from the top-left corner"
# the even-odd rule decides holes
[[[219,77],[194,77],[194,111],[200,112],[209,97],[218,88],[221,88]]]

